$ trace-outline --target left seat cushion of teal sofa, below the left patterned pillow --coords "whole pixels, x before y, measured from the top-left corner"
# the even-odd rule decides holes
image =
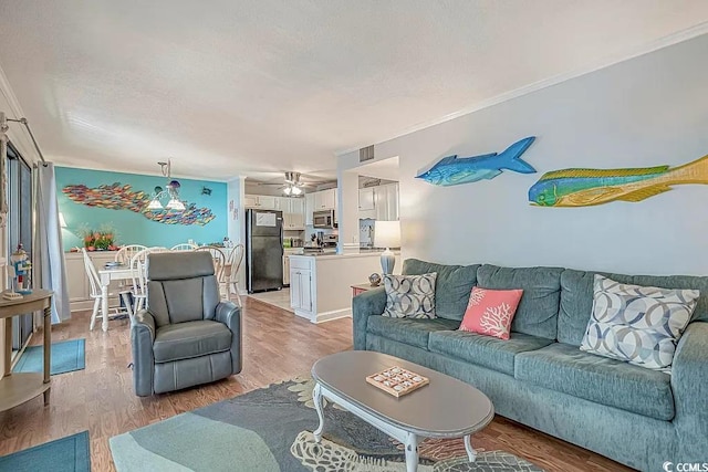
[[[428,348],[428,335],[442,329],[457,329],[460,322],[445,318],[389,318],[386,316],[369,316],[366,332],[399,343]]]

